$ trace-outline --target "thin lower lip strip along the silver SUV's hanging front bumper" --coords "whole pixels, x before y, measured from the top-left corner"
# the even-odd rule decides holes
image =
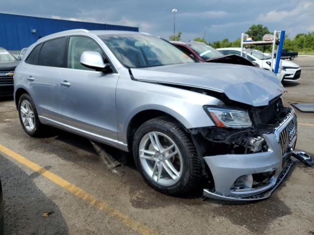
[[[204,189],[203,194],[205,197],[209,197],[216,200],[224,200],[224,201],[249,202],[249,201],[259,201],[259,200],[266,199],[270,197],[272,192],[275,191],[275,189],[278,188],[278,186],[283,182],[292,164],[293,162],[289,160],[285,168],[282,170],[281,174],[278,176],[276,184],[272,188],[269,188],[267,191],[262,192],[260,194],[246,196],[246,197],[231,197],[231,196],[223,196],[223,195],[216,194],[214,192],[209,191],[208,189]]]

